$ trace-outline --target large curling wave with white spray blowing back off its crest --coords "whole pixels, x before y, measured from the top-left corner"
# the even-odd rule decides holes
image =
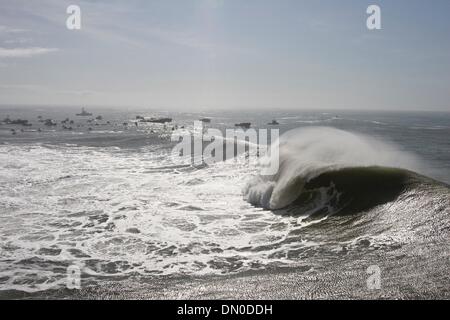
[[[414,156],[392,144],[334,128],[292,130],[276,143],[277,174],[257,176],[244,188],[248,202],[269,210],[363,210],[393,200],[414,180],[412,172],[389,168],[421,170]]]

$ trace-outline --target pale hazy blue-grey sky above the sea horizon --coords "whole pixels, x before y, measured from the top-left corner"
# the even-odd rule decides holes
[[[450,111],[449,15],[448,0],[0,0],[0,104]]]

